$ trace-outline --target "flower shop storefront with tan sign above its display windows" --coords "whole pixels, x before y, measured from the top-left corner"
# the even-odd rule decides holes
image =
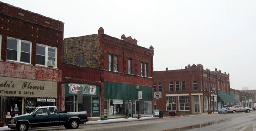
[[[1,119],[56,105],[56,98],[57,82],[0,76]]]

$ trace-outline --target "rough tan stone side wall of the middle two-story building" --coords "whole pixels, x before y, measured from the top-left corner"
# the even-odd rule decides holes
[[[99,68],[99,38],[97,34],[64,39],[64,63],[77,64],[77,55],[84,56],[85,67]]]

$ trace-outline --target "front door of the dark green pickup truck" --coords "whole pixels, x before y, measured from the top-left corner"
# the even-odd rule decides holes
[[[31,118],[31,127],[41,127],[49,124],[49,115],[47,113],[47,108],[40,108],[33,114]]]

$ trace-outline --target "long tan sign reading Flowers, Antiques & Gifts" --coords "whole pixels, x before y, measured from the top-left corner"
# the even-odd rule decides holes
[[[0,94],[14,97],[57,98],[57,82],[0,76]]]

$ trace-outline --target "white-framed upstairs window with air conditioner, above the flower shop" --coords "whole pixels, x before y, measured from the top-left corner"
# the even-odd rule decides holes
[[[42,44],[36,45],[36,64],[48,66],[46,61],[53,61],[51,62],[51,66],[56,67],[57,61],[57,48],[49,47]]]

